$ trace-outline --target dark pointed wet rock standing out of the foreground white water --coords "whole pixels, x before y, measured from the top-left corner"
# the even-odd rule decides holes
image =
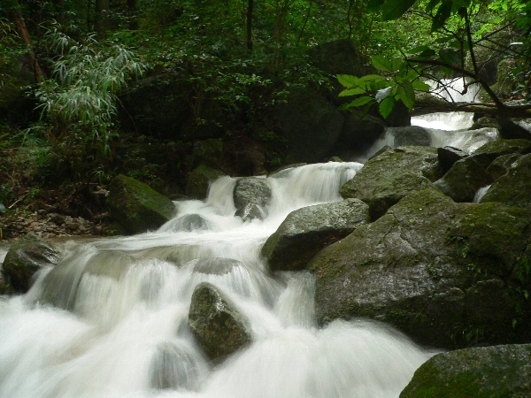
[[[222,360],[250,343],[250,322],[217,287],[196,287],[189,310],[189,327],[197,344],[212,360]]]

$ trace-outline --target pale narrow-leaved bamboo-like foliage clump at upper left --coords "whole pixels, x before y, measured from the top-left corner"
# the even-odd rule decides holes
[[[42,119],[54,134],[72,130],[85,134],[86,143],[99,144],[108,156],[108,130],[117,111],[117,94],[127,80],[143,73],[144,65],[119,44],[96,42],[94,35],[76,42],[57,25],[44,38],[58,56],[50,60],[53,79],[35,90]]]

